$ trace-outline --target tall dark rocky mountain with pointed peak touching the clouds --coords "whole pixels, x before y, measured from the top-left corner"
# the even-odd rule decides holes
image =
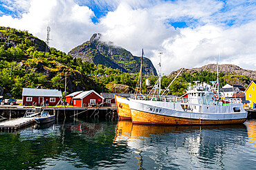
[[[133,56],[131,52],[122,47],[116,47],[111,42],[101,41],[101,36],[101,34],[93,34],[90,41],[78,45],[68,54],[74,58],[80,58],[82,61],[89,61],[95,65],[101,64],[122,70],[122,72],[140,72],[140,56]],[[145,74],[157,75],[156,69],[149,59],[145,58],[143,66]]]

